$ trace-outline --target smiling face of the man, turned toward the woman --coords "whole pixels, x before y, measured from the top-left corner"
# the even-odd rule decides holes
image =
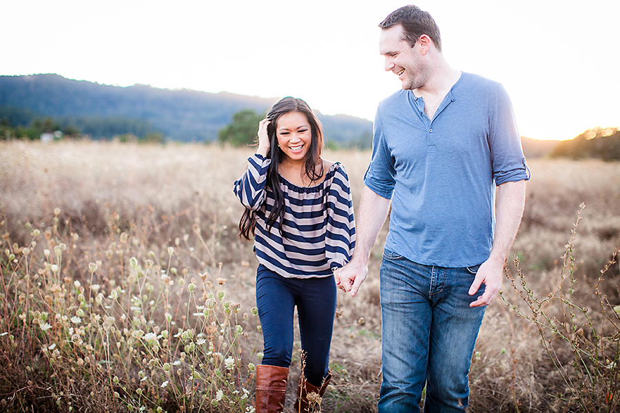
[[[423,87],[429,70],[420,56],[420,42],[411,47],[403,39],[402,25],[381,30],[379,52],[385,57],[385,70],[396,74],[405,90]]]

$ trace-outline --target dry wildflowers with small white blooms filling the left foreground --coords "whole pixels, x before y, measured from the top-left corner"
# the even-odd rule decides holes
[[[226,299],[221,264],[178,271],[195,248],[176,239],[146,252],[114,222],[107,244],[88,251],[54,214],[40,229],[28,224],[21,246],[0,222],[3,410],[254,411],[257,342],[247,330],[257,311]]]

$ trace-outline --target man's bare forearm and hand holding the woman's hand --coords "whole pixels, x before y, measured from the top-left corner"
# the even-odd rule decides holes
[[[351,297],[355,297],[360,285],[366,279],[368,274],[366,263],[387,217],[390,202],[391,200],[377,195],[372,189],[364,186],[356,220],[357,229],[353,257],[349,264],[334,273],[336,286],[345,292],[350,290]]]

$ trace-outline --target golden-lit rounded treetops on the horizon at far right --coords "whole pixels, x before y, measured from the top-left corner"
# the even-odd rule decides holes
[[[615,127],[588,129],[574,139],[559,142],[551,156],[620,160],[620,129]]]

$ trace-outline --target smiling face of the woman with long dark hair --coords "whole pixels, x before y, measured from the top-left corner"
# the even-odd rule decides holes
[[[280,116],[276,125],[276,138],[284,153],[282,160],[303,163],[312,142],[312,130],[306,115],[288,112]]]

